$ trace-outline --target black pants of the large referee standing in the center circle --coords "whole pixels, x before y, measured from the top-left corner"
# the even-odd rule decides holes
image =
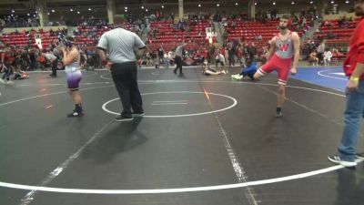
[[[137,87],[136,62],[130,61],[125,63],[115,63],[111,67],[111,76],[119,94],[123,111],[121,115],[132,117],[134,113],[143,113],[143,101]]]

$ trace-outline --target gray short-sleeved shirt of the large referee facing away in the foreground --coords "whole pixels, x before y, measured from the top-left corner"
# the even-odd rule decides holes
[[[134,49],[145,46],[139,36],[121,27],[104,33],[97,44],[97,47],[108,50],[111,63],[136,61]]]

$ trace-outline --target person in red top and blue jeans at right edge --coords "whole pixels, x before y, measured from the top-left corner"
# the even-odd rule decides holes
[[[344,132],[339,153],[328,157],[331,162],[345,167],[354,167],[356,159],[364,159],[363,153],[357,153],[359,123],[364,117],[364,0],[356,2],[355,15],[361,16],[361,19],[351,36],[344,63],[344,72],[349,77]]]

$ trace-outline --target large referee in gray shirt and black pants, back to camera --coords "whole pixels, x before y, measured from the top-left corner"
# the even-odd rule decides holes
[[[136,54],[143,55],[146,45],[135,33],[121,26],[125,22],[123,15],[114,17],[115,28],[104,33],[98,41],[98,54],[111,70],[111,76],[119,94],[123,111],[116,116],[116,121],[129,121],[144,115],[143,101],[136,82]],[[106,58],[108,52],[109,58]],[[133,110],[133,111],[132,111]]]

